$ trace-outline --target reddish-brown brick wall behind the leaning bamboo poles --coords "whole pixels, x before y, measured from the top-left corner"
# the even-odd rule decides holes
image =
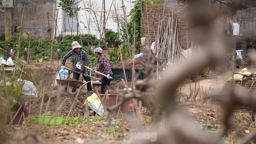
[[[165,6],[164,6],[165,5]],[[188,23],[188,47],[190,47],[191,40],[193,39],[193,32],[189,26],[189,18],[187,22],[187,9],[189,8],[188,2],[171,2],[167,1],[160,3],[157,6],[150,6],[149,4],[142,4],[142,18],[141,18],[141,37],[149,35],[150,44],[155,41],[157,34],[157,26],[161,24],[162,18],[164,17],[163,23],[166,24],[168,17],[173,13],[175,18],[177,18],[178,25],[180,28],[179,32],[179,43],[181,48],[187,49],[187,23]],[[224,31],[224,20],[226,18],[231,19],[233,22],[236,22],[236,10],[232,7],[221,3],[219,1],[214,1],[211,3],[212,9],[212,24],[214,27],[223,29]],[[163,14],[164,12],[164,14]],[[147,14],[146,14],[147,13]],[[148,18],[148,19],[147,19]],[[142,33],[144,31],[144,33]],[[227,56],[225,57],[225,68],[232,69],[232,56],[235,52],[236,40],[234,37],[229,37],[229,42],[227,42]]]

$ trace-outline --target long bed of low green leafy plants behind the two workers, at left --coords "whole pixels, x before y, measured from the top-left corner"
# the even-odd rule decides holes
[[[21,48],[18,48],[19,38],[18,37],[12,37],[12,40],[5,41],[4,40],[5,35],[2,34],[0,36],[0,47],[3,48],[7,52],[0,51],[0,55],[3,56],[4,59],[7,59],[10,57],[10,50],[13,49],[14,52],[17,52],[17,50],[20,50],[20,59],[24,60],[24,53],[23,50],[25,47],[27,47],[28,51],[28,39],[22,38],[21,41]],[[62,40],[62,35],[58,36],[57,39],[60,39],[60,42],[55,46],[56,50],[60,49],[61,53],[60,55],[63,57],[66,53],[68,53],[71,49],[71,44],[73,41],[78,41],[81,44],[81,40],[83,42],[83,46],[89,46],[89,45],[98,45],[99,39],[97,39],[94,35],[81,35],[81,36],[70,36],[66,35],[65,39]],[[39,38],[36,37],[30,37],[30,60],[38,60],[43,58],[44,60],[49,60],[51,57],[51,47],[52,47],[52,38],[51,37],[43,37],[40,41]],[[40,41],[40,45],[38,46]],[[54,40],[56,41],[56,40]],[[42,50],[41,50],[42,46]],[[103,49],[106,47],[105,45],[100,45]],[[53,48],[53,54],[52,58],[56,59],[55,48]],[[91,47],[90,47],[91,48]],[[93,55],[91,50],[89,51],[89,47],[82,47],[83,50],[86,52],[89,52],[88,55]]]

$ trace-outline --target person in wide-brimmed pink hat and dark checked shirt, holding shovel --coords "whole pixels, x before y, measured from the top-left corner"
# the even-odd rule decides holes
[[[70,50],[67,54],[64,55],[64,57],[63,57],[63,59],[61,61],[60,68],[61,69],[65,69],[66,60],[70,56],[72,56],[72,58],[73,58],[72,70],[75,70],[75,71],[80,72],[80,73],[84,73],[85,74],[85,75],[83,75],[84,80],[86,82],[91,81],[91,78],[88,77],[88,69],[87,68],[84,68],[84,70],[76,68],[76,63],[77,63],[78,60],[85,61],[86,62],[86,66],[87,67],[89,66],[88,54],[84,50],[81,49],[82,46],[78,42],[74,41],[71,45],[72,45],[72,50]],[[73,72],[73,78],[74,79],[78,80],[79,76],[80,76],[80,74]],[[91,82],[87,83],[87,91],[92,91]],[[73,88],[71,90],[71,92],[76,92],[76,89]]]

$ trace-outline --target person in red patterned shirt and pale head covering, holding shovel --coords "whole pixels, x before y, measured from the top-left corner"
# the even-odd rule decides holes
[[[107,85],[108,86],[110,85],[110,81],[111,81],[110,77],[113,75],[113,73],[112,73],[112,70],[111,70],[110,65],[108,63],[108,60],[102,55],[101,47],[96,47],[94,49],[94,56],[96,58],[98,58],[97,61],[99,63],[99,68],[97,68],[97,69],[93,68],[92,72],[99,71],[99,72],[107,75],[107,77],[101,75],[100,90],[101,90],[102,94],[105,94],[105,92],[107,90]]]

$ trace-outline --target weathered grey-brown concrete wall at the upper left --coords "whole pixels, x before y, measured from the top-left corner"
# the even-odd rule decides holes
[[[1,3],[2,0],[0,0]],[[15,9],[13,8],[12,19],[13,26],[20,26],[22,20],[23,7],[25,6],[23,31],[29,32],[31,36],[40,37],[41,29],[42,36],[51,36],[52,30],[47,32],[53,26],[53,1],[44,0],[42,6],[42,0],[17,0]],[[2,8],[2,4],[0,5]],[[43,27],[42,26],[42,12],[44,9]],[[0,34],[5,33],[5,12],[0,12]],[[17,36],[17,33],[13,33],[13,36]]]

